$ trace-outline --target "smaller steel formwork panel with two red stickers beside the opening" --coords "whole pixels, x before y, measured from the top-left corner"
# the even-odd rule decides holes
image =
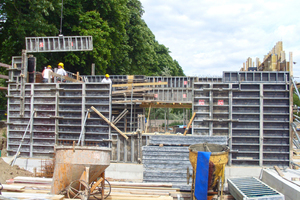
[[[230,84],[195,83],[193,95],[193,134],[227,136],[231,120]]]

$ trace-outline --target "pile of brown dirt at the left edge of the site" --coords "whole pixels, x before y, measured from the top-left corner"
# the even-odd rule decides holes
[[[1,150],[1,157],[5,157],[6,156],[6,127],[0,128],[0,150]],[[6,180],[12,179],[16,176],[33,176],[33,173],[25,169],[21,169],[17,165],[11,167],[2,158],[0,158],[0,183],[5,184]]]

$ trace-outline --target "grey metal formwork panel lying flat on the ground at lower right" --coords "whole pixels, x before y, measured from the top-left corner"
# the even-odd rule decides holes
[[[284,195],[257,178],[227,179],[228,190],[236,200],[284,200]]]

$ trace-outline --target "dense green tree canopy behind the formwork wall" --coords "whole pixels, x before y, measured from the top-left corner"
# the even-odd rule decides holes
[[[61,0],[3,0],[0,3],[0,62],[21,55],[25,37],[57,36]],[[142,19],[139,0],[64,0],[62,34],[93,36],[93,51],[36,53],[37,70],[64,62],[67,71],[90,74],[184,76],[167,47]]]

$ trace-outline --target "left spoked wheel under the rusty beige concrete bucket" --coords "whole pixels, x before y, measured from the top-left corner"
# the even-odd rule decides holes
[[[67,188],[67,195],[69,199],[86,200],[90,197],[89,185],[83,180],[72,181]]]

